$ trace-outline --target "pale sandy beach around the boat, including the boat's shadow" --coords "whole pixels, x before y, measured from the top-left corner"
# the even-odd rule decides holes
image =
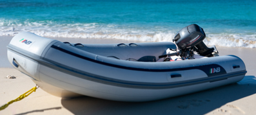
[[[8,62],[6,46],[12,37],[0,37],[0,105],[14,100],[35,86],[26,75]],[[65,39],[61,41],[88,44],[137,42],[107,39]],[[219,55],[236,55],[246,64],[248,73],[237,84],[186,94],[153,102],[114,102],[83,96],[63,99],[37,89],[35,93],[9,105],[0,114],[256,114],[256,65],[254,48],[218,47]],[[15,79],[7,79],[13,75]]]

